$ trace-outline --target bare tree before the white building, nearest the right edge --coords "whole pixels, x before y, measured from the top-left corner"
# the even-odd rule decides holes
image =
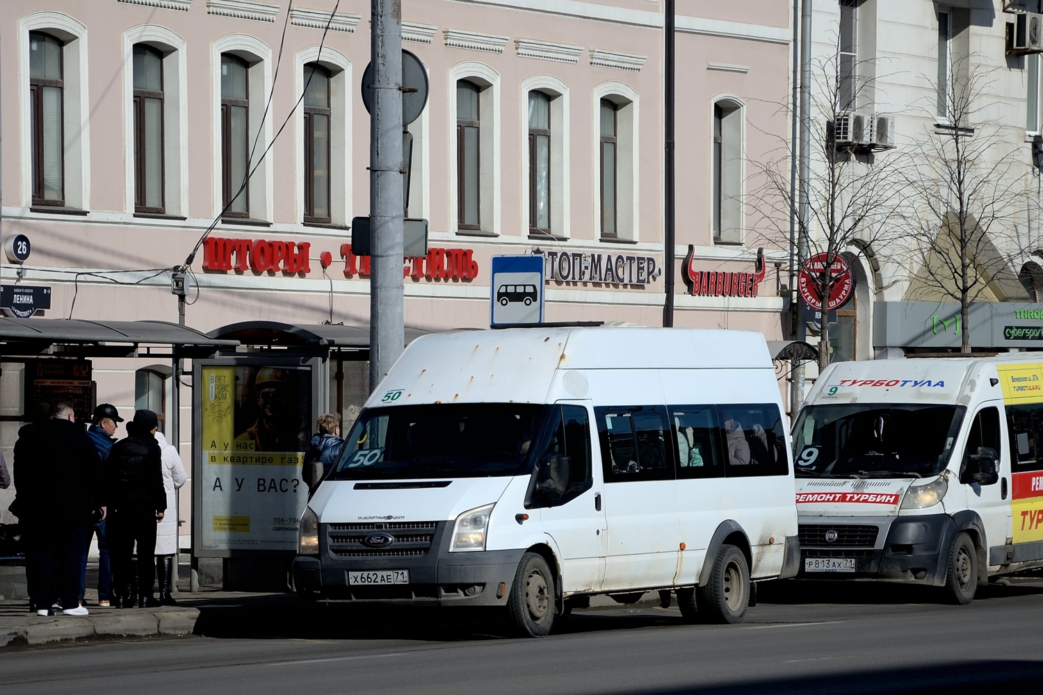
[[[947,83],[933,83],[945,117],[916,142],[905,179],[903,247],[917,266],[906,296],[960,302],[962,352],[971,351],[971,302],[987,290],[1024,295],[1012,264],[1022,253],[1015,223],[1025,215],[1021,179],[1029,168],[1019,160],[1020,138],[1004,136],[992,118],[1002,107],[994,80],[993,71],[963,59]]]

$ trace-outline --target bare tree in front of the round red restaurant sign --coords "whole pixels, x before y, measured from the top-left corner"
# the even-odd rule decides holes
[[[778,156],[752,163],[756,193],[750,196],[755,226],[771,229],[765,244],[778,243],[779,222],[795,220],[797,249],[790,278],[793,301],[799,301],[794,275],[805,271],[812,281],[811,294],[824,298],[819,365],[829,364],[829,332],[825,316],[828,298],[838,283],[831,272],[838,256],[886,253],[893,235],[891,222],[900,213],[900,175],[905,157],[884,152],[891,145],[877,144],[872,133],[872,74],[869,61],[853,64],[841,51],[812,66],[809,119],[810,174],[791,187],[790,163],[797,156],[791,143]],[[857,106],[867,106],[858,108]],[[783,110],[783,109],[780,109]],[[787,114],[789,109],[784,109]],[[804,210],[801,210],[801,202]],[[809,259],[825,253],[826,262]],[[799,319],[798,319],[799,320]]]

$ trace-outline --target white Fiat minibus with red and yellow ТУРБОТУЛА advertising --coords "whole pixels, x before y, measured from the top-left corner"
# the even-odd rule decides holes
[[[800,578],[939,587],[1043,566],[1040,355],[844,362],[794,425]]]

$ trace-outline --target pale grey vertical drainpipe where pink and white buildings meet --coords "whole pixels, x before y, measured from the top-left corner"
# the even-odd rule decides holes
[[[798,270],[808,256],[808,225],[811,218],[808,187],[811,179],[811,3],[812,0],[802,0],[800,17],[800,188],[799,212],[800,223],[797,227],[797,258]],[[797,298],[799,302],[800,299]],[[797,307],[797,340],[807,337],[804,317]],[[794,370],[791,408],[796,417],[804,400],[804,367],[800,365]]]

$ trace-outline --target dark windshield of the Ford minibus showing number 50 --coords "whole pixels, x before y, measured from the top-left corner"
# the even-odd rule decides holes
[[[545,405],[435,403],[362,412],[329,479],[524,473]]]

